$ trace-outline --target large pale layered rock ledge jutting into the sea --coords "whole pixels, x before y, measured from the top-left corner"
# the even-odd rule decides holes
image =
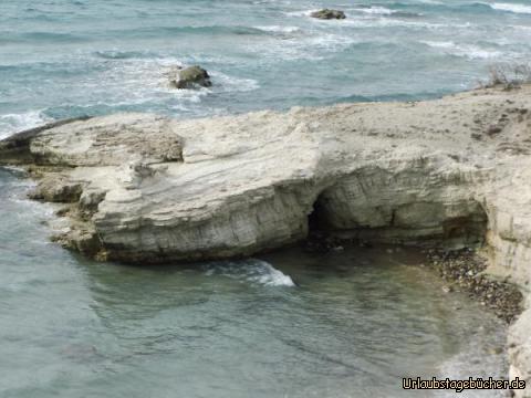
[[[118,114],[14,135],[0,164],[31,166],[35,198],[71,203],[56,240],[98,259],[249,255],[304,239],[311,216],[347,238],[485,244],[489,272],[527,292],[530,109],[523,86],[196,121]],[[528,384],[530,326],[528,310],[509,342]]]

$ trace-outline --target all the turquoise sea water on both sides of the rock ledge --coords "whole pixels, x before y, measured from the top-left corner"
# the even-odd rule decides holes
[[[308,17],[322,7],[348,19]],[[435,97],[530,53],[523,0],[0,0],[0,137],[118,111]],[[180,63],[214,86],[170,90]],[[95,263],[49,242],[54,209],[21,177],[0,169],[2,398],[402,397],[404,376],[507,374],[503,325],[415,253]]]

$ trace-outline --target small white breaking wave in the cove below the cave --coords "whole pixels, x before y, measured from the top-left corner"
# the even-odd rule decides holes
[[[270,263],[248,259],[241,261],[223,261],[205,265],[207,275],[222,275],[238,281],[264,286],[295,286],[291,276],[277,270]]]

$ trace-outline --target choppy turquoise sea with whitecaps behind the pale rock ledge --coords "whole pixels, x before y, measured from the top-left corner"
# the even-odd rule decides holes
[[[311,10],[345,10],[345,21]],[[197,117],[477,85],[529,62],[527,0],[2,0],[0,136],[118,111]],[[210,90],[175,91],[169,65],[204,65]]]

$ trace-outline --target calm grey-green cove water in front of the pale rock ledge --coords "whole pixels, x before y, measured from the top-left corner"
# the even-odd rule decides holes
[[[53,208],[17,176],[0,168],[2,398],[406,397],[405,376],[507,373],[503,324],[418,253],[95,263],[48,241]]]

